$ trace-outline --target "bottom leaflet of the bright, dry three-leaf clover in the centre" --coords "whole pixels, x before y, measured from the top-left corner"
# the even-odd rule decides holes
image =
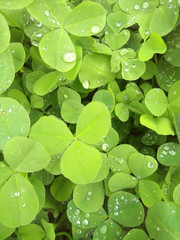
[[[99,151],[80,141],[74,141],[61,159],[62,174],[76,184],[90,183],[101,167]]]

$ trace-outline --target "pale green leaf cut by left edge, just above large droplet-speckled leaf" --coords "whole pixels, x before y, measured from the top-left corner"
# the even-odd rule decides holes
[[[0,54],[0,93],[5,92],[12,84],[15,77],[15,68],[12,54],[6,49]]]

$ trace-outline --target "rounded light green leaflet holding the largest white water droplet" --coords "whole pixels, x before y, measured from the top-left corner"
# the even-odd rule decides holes
[[[39,51],[45,63],[59,72],[69,71],[76,63],[74,45],[63,29],[47,33],[40,41]]]

